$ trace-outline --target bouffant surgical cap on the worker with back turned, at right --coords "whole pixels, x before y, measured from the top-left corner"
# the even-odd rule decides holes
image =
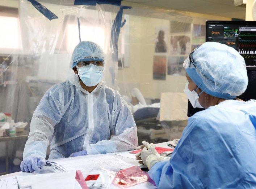
[[[207,94],[224,99],[233,99],[247,88],[248,76],[244,58],[227,45],[206,42],[184,62],[186,73]],[[190,64],[190,66],[189,66]]]

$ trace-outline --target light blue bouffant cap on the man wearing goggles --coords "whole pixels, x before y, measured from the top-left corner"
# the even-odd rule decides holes
[[[93,43],[92,41],[81,41],[74,49],[72,54],[72,63],[87,57],[93,57],[95,60],[104,60],[105,54],[97,43]],[[73,64],[72,68],[75,66],[76,64]]]

